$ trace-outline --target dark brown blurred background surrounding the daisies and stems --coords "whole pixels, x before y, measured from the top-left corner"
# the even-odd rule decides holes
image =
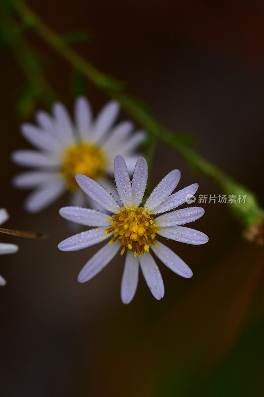
[[[91,42],[74,47],[125,80],[164,126],[195,135],[198,151],[256,192],[264,205],[262,1],[28,4],[58,33],[91,32]],[[27,38],[48,57],[46,76],[72,111],[70,66],[33,31]],[[27,192],[10,185],[19,169],[9,154],[29,145],[19,134],[23,119],[17,111],[24,78],[8,48],[1,51],[0,206],[10,213],[6,227],[48,232],[49,239],[0,236],[20,247],[18,254],[0,258],[7,280],[0,288],[0,395],[263,396],[263,248],[242,240],[226,205],[210,203],[193,226],[209,235],[209,243],[169,244],[190,265],[193,278],[158,263],[165,284],[161,301],[140,276],[134,300],[123,305],[123,259],[117,257],[79,284],[77,274],[97,247],[57,250],[70,234],[58,216],[67,197],[28,215],[22,209]],[[85,91],[98,111],[106,96],[89,82]],[[173,168],[182,172],[180,188],[198,182],[198,194],[220,193],[159,143],[152,186]]]

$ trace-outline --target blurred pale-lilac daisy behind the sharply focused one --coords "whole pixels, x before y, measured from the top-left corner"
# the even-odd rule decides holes
[[[45,111],[36,113],[37,126],[21,125],[22,135],[37,150],[16,150],[11,155],[16,164],[33,168],[13,179],[16,188],[34,189],[25,201],[28,212],[41,211],[66,191],[71,194],[72,205],[85,205],[86,196],[76,184],[76,174],[85,174],[115,190],[106,178],[112,176],[115,156],[122,153],[132,173],[138,158],[135,149],[145,138],[145,132],[133,132],[130,121],[114,126],[119,113],[116,101],[108,102],[93,120],[88,100],[77,98],[74,123],[63,104],[54,103],[52,110],[52,116]]]

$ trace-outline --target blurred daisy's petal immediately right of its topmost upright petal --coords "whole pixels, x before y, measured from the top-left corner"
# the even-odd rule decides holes
[[[95,124],[95,140],[98,142],[109,131],[119,113],[119,103],[117,101],[109,101],[101,109],[98,114]]]

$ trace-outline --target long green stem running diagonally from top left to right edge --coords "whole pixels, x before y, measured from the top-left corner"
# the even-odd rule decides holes
[[[251,226],[252,224],[263,222],[264,211],[259,206],[255,195],[190,147],[190,143],[192,143],[190,136],[170,132],[161,126],[146,105],[138,98],[124,91],[124,83],[109,77],[87,62],[69,47],[62,37],[50,29],[23,0],[9,0],[9,2],[23,18],[23,21],[31,25],[46,43],[68,61],[74,69],[83,73],[108,96],[117,99],[122,107],[153,137],[173,147],[194,169],[217,181],[225,194],[246,194],[247,204],[230,205],[232,212],[244,225]]]

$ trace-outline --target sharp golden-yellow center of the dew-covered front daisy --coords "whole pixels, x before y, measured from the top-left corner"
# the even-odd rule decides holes
[[[149,252],[150,245],[157,246],[156,233],[158,233],[155,219],[143,207],[122,208],[118,213],[113,214],[111,218],[111,226],[106,229],[105,234],[113,232],[113,237],[109,244],[116,240],[120,240],[121,255],[126,248],[132,250],[133,255],[139,253],[140,256],[145,251]]]

